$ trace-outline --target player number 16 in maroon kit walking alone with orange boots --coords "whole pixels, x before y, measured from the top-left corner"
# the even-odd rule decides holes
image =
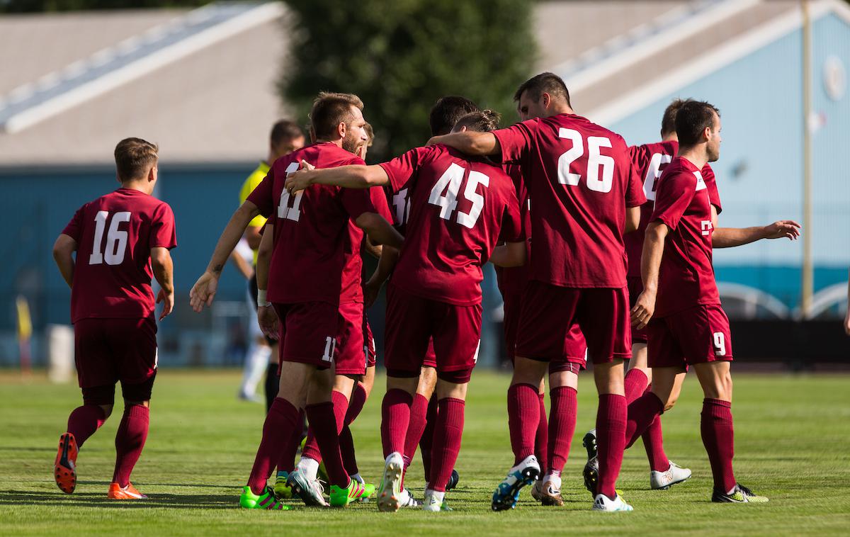
[[[54,244],[59,272],[71,287],[74,355],[82,406],[68,416],[59,437],[54,478],[71,494],[77,486],[77,453],[104,424],[121,382],[124,415],[115,437],[112,500],[147,498],[130,473],[148,437],[150,392],[156,378],[156,278],[159,319],[174,307],[171,250],[177,246],[171,207],[151,194],[156,186],[156,144],[125,138],[116,145],[121,188],[80,207]],[[77,252],[75,261],[73,253]]]

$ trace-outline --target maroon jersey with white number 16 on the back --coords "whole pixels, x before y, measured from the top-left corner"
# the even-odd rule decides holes
[[[71,322],[153,314],[150,249],[177,246],[174,213],[165,201],[117,189],[77,209],[62,233],[77,241]]]

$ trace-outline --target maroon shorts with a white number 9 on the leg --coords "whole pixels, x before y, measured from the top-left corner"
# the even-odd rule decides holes
[[[720,304],[694,306],[647,325],[649,367],[681,367],[732,360],[729,319]]]

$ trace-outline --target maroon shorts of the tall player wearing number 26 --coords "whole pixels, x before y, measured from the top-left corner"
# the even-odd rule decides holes
[[[575,288],[532,280],[525,287],[516,355],[551,362],[594,364],[632,357],[626,288]]]

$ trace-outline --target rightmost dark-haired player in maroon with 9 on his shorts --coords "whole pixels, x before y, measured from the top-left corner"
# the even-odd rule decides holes
[[[791,240],[799,224],[790,220],[764,227],[716,228],[701,170],[720,155],[720,114],[714,106],[685,102],[676,115],[679,148],[655,192],[641,256],[643,292],[632,308],[632,324],[647,328],[652,391],[629,405],[627,445],[670,410],[689,365],[705,398],[700,432],[714,477],[712,501],[765,502],[737,483],[732,471],[732,341],[720,306],[711,250],[760,239]],[[650,322],[651,319],[651,322]]]

